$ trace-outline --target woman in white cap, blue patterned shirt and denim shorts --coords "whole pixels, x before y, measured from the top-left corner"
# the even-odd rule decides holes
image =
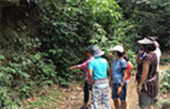
[[[112,59],[112,76],[110,79],[110,86],[112,86],[112,99],[116,109],[119,109],[119,100],[121,100],[122,108],[126,109],[126,92],[127,92],[127,63],[123,58],[124,49],[121,45],[117,45],[111,49],[115,55]]]

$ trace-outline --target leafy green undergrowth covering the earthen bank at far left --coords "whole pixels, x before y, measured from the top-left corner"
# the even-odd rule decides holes
[[[6,11],[17,16],[15,12],[11,13],[11,8]],[[23,11],[18,9],[17,12]],[[13,17],[8,18],[8,16],[5,14],[3,16],[7,18],[2,19],[4,20],[2,25],[6,22],[10,25],[2,26],[0,40],[0,108],[18,109],[26,98],[34,96],[58,80],[54,62],[45,58],[46,53],[39,50],[42,42],[32,29],[34,25],[30,22],[33,19],[21,14],[13,22]],[[27,21],[28,19],[30,21]]]

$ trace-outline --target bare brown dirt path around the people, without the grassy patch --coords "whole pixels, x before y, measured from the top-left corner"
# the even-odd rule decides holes
[[[166,70],[168,67],[168,65],[160,66],[160,72]],[[61,93],[63,93],[63,96],[61,96],[60,101],[58,101],[58,109],[80,109],[80,107],[83,105],[83,86],[81,84],[73,83],[69,89],[61,89]],[[110,101],[112,109],[114,109],[113,101],[111,98]],[[127,101],[128,109],[139,109],[135,76],[131,76],[131,79],[128,83]]]

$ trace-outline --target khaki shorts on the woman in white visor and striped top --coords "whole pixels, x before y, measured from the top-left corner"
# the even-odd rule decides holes
[[[139,107],[141,108],[149,108],[154,104],[154,97],[148,96],[146,91],[142,91],[139,96]]]

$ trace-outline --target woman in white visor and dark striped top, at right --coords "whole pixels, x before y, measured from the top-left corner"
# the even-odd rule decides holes
[[[139,107],[153,109],[155,97],[158,94],[157,56],[154,53],[154,41],[144,38],[138,41],[143,46],[146,55],[138,63],[136,75]]]

